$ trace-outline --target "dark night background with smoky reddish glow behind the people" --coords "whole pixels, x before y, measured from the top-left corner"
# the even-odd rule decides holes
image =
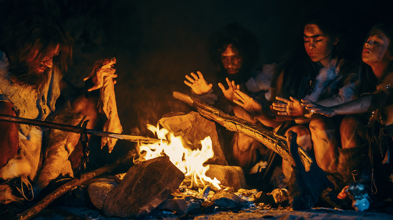
[[[156,125],[163,114],[184,111],[173,91],[189,92],[184,75],[197,70],[214,74],[206,52],[211,33],[237,22],[261,45],[260,63],[279,62],[302,33],[310,14],[336,15],[345,35],[360,51],[376,22],[391,23],[389,1],[5,1],[0,0],[2,24],[23,8],[57,17],[74,37],[74,62],[65,77],[78,86],[95,60],[116,57],[115,93],[123,134],[146,135],[141,128]],[[300,35],[301,36],[301,35]],[[119,141],[111,156],[134,147]],[[106,154],[103,154],[106,155]]]

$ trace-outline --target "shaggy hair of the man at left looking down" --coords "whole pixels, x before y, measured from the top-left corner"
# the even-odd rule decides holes
[[[10,60],[11,74],[37,89],[41,89],[46,83],[48,75],[47,72],[36,74],[34,69],[57,45],[59,54],[53,59],[54,64],[67,70],[67,64],[72,58],[71,35],[55,19],[47,14],[37,13],[37,10],[24,11],[11,18],[1,45]],[[35,57],[32,57],[34,54]]]

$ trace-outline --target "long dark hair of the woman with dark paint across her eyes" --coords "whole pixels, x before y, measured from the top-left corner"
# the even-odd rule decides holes
[[[303,23],[303,30],[306,25],[314,24],[324,35],[330,37],[333,41],[338,39],[338,43],[333,48],[333,56],[344,57],[345,50],[342,50],[342,35],[339,23],[330,16],[312,16]],[[304,49],[303,30],[298,34],[297,41],[290,51],[284,56],[283,61],[277,66],[275,76],[272,80],[272,87],[274,92],[272,98],[275,96],[282,96],[289,98],[289,96],[298,99],[303,98],[307,93],[312,91],[315,84],[315,77],[318,74],[321,64],[314,63],[309,58]],[[283,84],[278,85],[278,77],[283,72]]]

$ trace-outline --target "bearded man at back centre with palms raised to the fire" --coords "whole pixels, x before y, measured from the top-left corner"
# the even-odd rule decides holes
[[[227,114],[234,114],[239,118],[254,122],[242,107],[233,102],[233,99],[236,89],[241,89],[254,98],[269,89],[270,83],[265,83],[263,86],[257,86],[263,91],[253,92],[252,86],[255,83],[246,84],[250,78],[260,75],[261,72],[264,74],[263,77],[259,76],[258,81],[270,81],[273,76],[272,71],[263,71],[273,69],[272,65],[264,66],[264,69],[260,70],[259,48],[256,36],[238,24],[232,23],[213,33],[207,44],[208,54],[216,67],[216,74],[208,77],[213,78],[212,81],[215,83],[207,83],[204,75],[199,71],[197,74],[186,75],[187,80],[184,83],[191,87],[192,93],[198,95],[198,98],[215,105]],[[254,169],[253,166],[258,162],[277,159],[278,157],[272,157],[274,152],[246,135],[228,131],[222,131],[221,134],[225,140],[228,140],[223,146],[228,163],[243,168],[247,184],[259,189],[264,186],[266,187],[264,189],[271,190],[267,187],[267,181],[258,182],[254,177],[249,178],[248,174],[258,173],[259,175],[260,169],[257,166]]]

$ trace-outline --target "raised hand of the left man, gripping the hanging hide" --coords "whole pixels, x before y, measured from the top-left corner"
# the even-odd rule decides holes
[[[86,81],[92,78],[94,86],[89,88],[88,91],[106,86],[110,82],[109,80],[112,80],[113,84],[116,84],[116,80],[113,79],[117,77],[117,74],[115,74],[116,69],[113,68],[115,63],[116,58],[114,57],[98,60],[94,63],[93,70],[89,76],[83,79]]]

